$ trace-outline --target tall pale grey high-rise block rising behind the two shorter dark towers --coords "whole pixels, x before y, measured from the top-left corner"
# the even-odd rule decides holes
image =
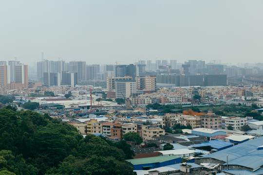
[[[71,61],[70,71],[77,73],[77,82],[86,81],[86,61]]]

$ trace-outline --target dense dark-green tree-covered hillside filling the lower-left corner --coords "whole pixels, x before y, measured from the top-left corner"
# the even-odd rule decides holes
[[[133,175],[125,140],[83,138],[76,128],[31,110],[0,110],[0,175]]]

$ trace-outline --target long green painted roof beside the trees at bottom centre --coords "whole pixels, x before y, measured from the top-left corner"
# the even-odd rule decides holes
[[[128,159],[126,161],[130,162],[132,165],[148,164],[148,163],[157,163],[165,162],[179,158],[178,156],[157,156],[157,157],[146,157],[146,158],[134,158]]]

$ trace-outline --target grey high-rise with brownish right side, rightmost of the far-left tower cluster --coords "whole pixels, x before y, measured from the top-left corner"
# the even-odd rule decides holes
[[[15,66],[15,82],[21,83],[25,88],[28,88],[28,67],[27,65]]]

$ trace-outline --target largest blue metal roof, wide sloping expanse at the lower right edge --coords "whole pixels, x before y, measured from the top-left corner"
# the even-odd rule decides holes
[[[241,165],[255,170],[263,165],[263,150],[258,150],[262,143],[263,137],[260,137],[210,155],[205,155],[202,158],[211,157],[226,162],[226,155],[228,155],[228,164]]]

